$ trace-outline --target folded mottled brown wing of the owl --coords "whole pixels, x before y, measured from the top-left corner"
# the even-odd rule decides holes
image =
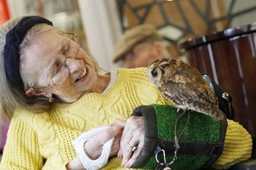
[[[200,72],[194,67],[186,65],[176,69],[173,74],[170,74],[168,70],[165,72],[165,76],[162,77],[162,87],[159,88],[163,88],[162,91],[169,93],[167,96],[162,93],[166,98],[170,98],[174,94],[179,98],[176,98],[176,100],[184,101],[185,99],[182,98],[188,98],[187,102],[190,102],[197,96],[197,100],[203,100],[202,102],[218,104],[217,96],[214,95]]]

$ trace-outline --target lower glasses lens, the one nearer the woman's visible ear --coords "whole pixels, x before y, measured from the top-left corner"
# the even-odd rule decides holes
[[[67,80],[68,75],[69,75],[69,69],[65,64],[62,64],[59,67],[58,72],[56,72],[56,74],[52,78],[53,84],[62,85],[65,82],[65,80]]]

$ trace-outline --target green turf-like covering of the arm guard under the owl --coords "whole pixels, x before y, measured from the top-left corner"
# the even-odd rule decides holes
[[[177,112],[177,108],[170,105],[152,105],[157,116],[157,133],[159,140],[174,139],[174,126],[176,118],[183,110]],[[178,134],[181,134],[187,123],[188,113],[185,113],[178,120]],[[219,142],[221,125],[219,120],[214,120],[208,115],[199,112],[191,112],[189,124],[179,142]],[[179,155],[178,159],[170,165],[173,170],[194,170],[200,169],[211,157],[202,155]],[[161,160],[161,156],[159,156]],[[173,159],[173,155],[167,154],[167,162]],[[154,155],[143,169],[156,169],[157,161]]]

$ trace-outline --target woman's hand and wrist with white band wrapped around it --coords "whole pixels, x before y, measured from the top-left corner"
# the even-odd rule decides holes
[[[115,137],[110,151],[110,157],[117,155],[120,147],[120,139],[123,128],[124,126],[113,124],[110,126],[110,128],[107,128],[105,131],[102,131],[101,133],[89,139],[84,144],[86,154],[93,160],[99,158],[99,156],[102,154],[103,144],[105,144],[105,142],[108,142],[108,140]],[[78,156],[76,156],[72,161],[67,163],[66,168],[67,170],[84,169],[83,164],[81,163],[80,158]]]

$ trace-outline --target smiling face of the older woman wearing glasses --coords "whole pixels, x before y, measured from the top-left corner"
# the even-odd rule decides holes
[[[21,61],[20,72],[29,77],[28,96],[55,95],[66,102],[78,100],[84,93],[100,92],[102,87],[89,55],[72,40],[50,29],[31,40]],[[99,81],[99,82],[97,82]]]

